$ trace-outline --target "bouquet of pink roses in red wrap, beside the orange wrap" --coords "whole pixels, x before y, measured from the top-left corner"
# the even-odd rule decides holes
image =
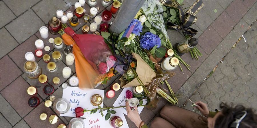
[[[105,44],[102,36],[96,34],[76,34],[70,27],[65,28],[64,32],[75,40],[84,57],[95,71],[99,74],[109,72],[115,64],[116,58],[112,56],[113,53],[107,44]]]

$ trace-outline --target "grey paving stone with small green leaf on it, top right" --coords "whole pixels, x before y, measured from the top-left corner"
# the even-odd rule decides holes
[[[224,11],[216,0],[203,0],[203,3],[204,6],[202,8],[213,20],[215,20]],[[214,9],[217,10],[216,13],[214,13]]]

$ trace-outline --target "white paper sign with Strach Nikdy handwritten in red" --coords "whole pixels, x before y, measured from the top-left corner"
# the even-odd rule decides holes
[[[111,114],[112,116],[119,116],[121,117],[121,119],[123,120],[123,125],[121,126],[121,128],[129,128],[128,127],[128,123],[127,120],[123,114],[123,112],[119,111],[118,109],[113,109],[116,111],[115,114]],[[107,111],[103,111],[104,116],[102,117],[101,115],[99,117],[89,117],[87,119],[83,119],[84,124],[85,124],[85,128],[113,128],[110,125],[110,119],[108,119],[107,121],[105,120],[105,115],[106,115]]]

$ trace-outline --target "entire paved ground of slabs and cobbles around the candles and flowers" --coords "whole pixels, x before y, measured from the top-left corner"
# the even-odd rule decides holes
[[[37,127],[56,127],[59,123],[68,124],[71,117],[60,117],[55,125],[50,125],[48,121],[40,121],[39,113],[47,112],[53,114],[53,109],[44,107],[44,101],[49,98],[43,93],[43,86],[37,80],[29,79],[23,71],[25,63],[24,54],[27,51],[34,51],[36,48],[34,42],[42,39],[39,34],[39,28],[47,25],[49,19],[55,16],[57,9],[63,11],[73,11],[74,3],[77,0],[2,0],[0,1],[0,123],[3,127],[19,127],[19,128],[37,128]],[[183,7],[189,7],[194,0],[185,0]],[[238,38],[247,30],[248,26],[257,19],[257,3],[256,0],[203,0],[204,7],[196,15],[198,20],[192,28],[198,30],[196,35],[199,38],[198,49],[203,56],[199,60],[194,60],[189,54],[182,56],[182,59],[191,65],[191,70],[187,70],[182,66],[183,72],[175,69],[176,75],[169,79],[174,92],[184,94],[179,98],[179,106],[183,104],[190,109],[186,102],[188,98],[191,100],[203,100],[208,103],[210,109],[215,109],[219,102],[233,101],[236,103],[244,103],[248,106],[256,106],[256,68],[257,62],[254,60],[256,54],[256,27],[253,25],[244,36],[247,43],[242,40],[236,48],[230,48],[238,40]],[[101,9],[98,15],[105,9],[98,5]],[[106,9],[110,9],[111,6]],[[85,4],[84,8],[87,13],[90,7]],[[217,9],[217,13],[214,13]],[[113,19],[116,15],[113,15]],[[112,19],[112,20],[113,20]],[[92,23],[93,20],[87,23]],[[73,28],[76,33],[81,34],[81,27],[84,22]],[[68,24],[69,25],[69,24]],[[184,40],[181,33],[168,30],[168,35],[172,44]],[[59,37],[49,33],[49,38]],[[55,51],[52,44],[48,43],[48,39],[42,39],[46,46],[51,47],[51,51]],[[250,43],[252,42],[252,43]],[[229,53],[228,53],[229,52]],[[218,62],[224,58],[224,63],[220,63],[214,74],[204,81],[204,78],[212,71]],[[36,58],[39,66],[46,73],[42,58]],[[61,83],[54,85],[54,95],[62,96],[63,88],[61,84],[67,82],[67,79],[61,77],[61,69],[67,66],[65,57],[57,66],[58,73],[49,74],[49,83],[53,77],[59,76]],[[75,74],[75,66],[69,66]],[[250,74],[250,75],[249,75]],[[120,75],[116,75],[105,85],[100,85],[97,89],[110,89],[110,84],[119,83]],[[40,105],[37,108],[30,108],[27,105],[29,96],[26,89],[30,85],[36,86],[38,89],[38,97]],[[166,88],[164,86],[164,88]],[[199,88],[197,90],[197,88]],[[222,90],[222,91],[220,91]],[[120,90],[121,92],[121,90]],[[118,92],[117,94],[119,94]],[[196,93],[194,93],[196,92]],[[255,92],[255,93],[254,93]],[[118,96],[118,95],[117,95]],[[105,99],[104,105],[112,106],[115,102],[113,99]],[[147,110],[146,108],[140,114],[143,121],[150,126],[151,120],[158,117],[159,110],[167,104],[166,100],[161,99],[156,110]],[[134,128],[135,125],[127,118],[129,127]]]

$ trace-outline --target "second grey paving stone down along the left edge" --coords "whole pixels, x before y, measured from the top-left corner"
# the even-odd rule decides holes
[[[1,38],[0,58],[5,56],[12,49],[14,49],[16,46],[19,45],[19,43],[17,43],[17,41],[9,34],[9,32],[5,28],[2,28],[0,30],[0,38]]]

